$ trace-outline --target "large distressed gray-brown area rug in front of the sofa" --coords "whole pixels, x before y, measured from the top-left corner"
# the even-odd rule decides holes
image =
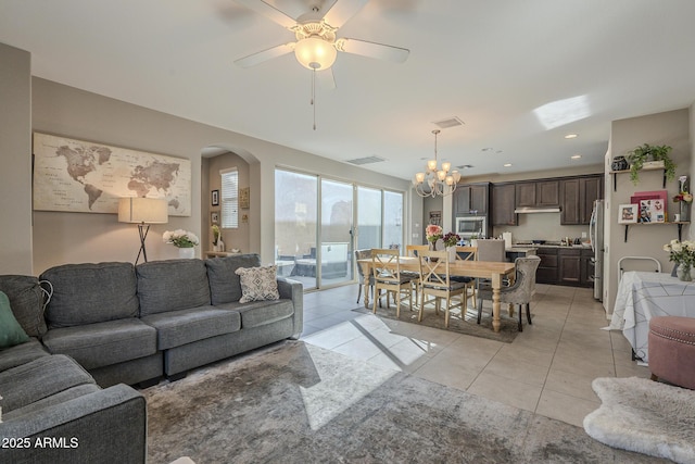
[[[142,393],[150,464],[184,455],[216,464],[658,462],[580,427],[302,341]]]

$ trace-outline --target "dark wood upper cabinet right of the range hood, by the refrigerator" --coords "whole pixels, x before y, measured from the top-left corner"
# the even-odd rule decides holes
[[[589,225],[594,200],[603,198],[603,176],[560,180],[560,224]]]

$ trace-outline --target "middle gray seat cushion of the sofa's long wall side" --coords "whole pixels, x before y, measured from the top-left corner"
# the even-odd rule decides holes
[[[241,317],[238,312],[223,311],[213,306],[151,314],[142,317],[141,321],[156,328],[160,350],[230,334],[241,328]]]

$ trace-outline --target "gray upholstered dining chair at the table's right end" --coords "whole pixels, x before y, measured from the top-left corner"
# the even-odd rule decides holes
[[[515,260],[516,278],[509,287],[500,289],[500,302],[519,305],[519,331],[523,331],[521,323],[521,305],[526,305],[526,317],[531,322],[531,300],[535,294],[535,272],[541,264],[541,259],[536,255],[517,258]],[[478,291],[479,302],[481,300],[492,300],[492,290],[484,289]],[[482,304],[478,305],[478,324],[482,316]]]

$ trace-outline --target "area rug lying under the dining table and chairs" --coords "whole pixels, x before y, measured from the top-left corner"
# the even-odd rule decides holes
[[[371,309],[366,309],[364,305],[357,306],[353,311],[371,314]],[[431,305],[427,306],[422,314],[421,322],[417,321],[417,311],[410,311],[407,305],[402,305],[401,316],[396,317],[394,303],[391,304],[390,309],[387,309],[386,301],[382,303],[382,308],[379,308],[377,304],[377,315],[387,319],[419,324],[442,330],[451,330],[473,337],[503,341],[505,343],[511,343],[517,335],[519,335],[519,314],[515,312],[516,317],[509,317],[509,312],[506,309],[500,312],[500,331],[497,333],[492,329],[492,309],[486,306],[483,306],[480,324],[478,324],[478,310],[467,308],[463,318],[459,309],[452,310],[448,328],[444,328],[444,311],[442,310],[437,314]],[[533,314],[531,314],[531,319],[533,319]],[[523,324],[527,324],[526,314],[523,314]]]

